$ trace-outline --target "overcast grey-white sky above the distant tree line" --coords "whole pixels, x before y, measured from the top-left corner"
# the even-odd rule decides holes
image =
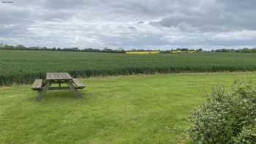
[[[5,44],[126,49],[256,46],[255,0],[0,1],[0,43]]]

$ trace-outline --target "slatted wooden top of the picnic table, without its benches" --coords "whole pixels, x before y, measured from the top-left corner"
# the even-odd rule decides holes
[[[46,80],[72,80],[67,72],[47,72]]]

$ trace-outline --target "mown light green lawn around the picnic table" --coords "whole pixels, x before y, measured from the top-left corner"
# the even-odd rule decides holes
[[[83,99],[29,85],[0,88],[0,143],[188,143],[187,117],[218,83],[255,72],[132,75],[83,79]]]

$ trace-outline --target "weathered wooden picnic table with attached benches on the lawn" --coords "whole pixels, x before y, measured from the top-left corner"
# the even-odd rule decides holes
[[[58,87],[50,87],[53,83],[59,83]],[[61,86],[61,83],[67,83],[67,86]],[[72,78],[67,72],[48,72],[46,74],[46,79],[34,80],[31,88],[34,91],[38,91],[39,94],[36,100],[42,99],[42,96],[48,90],[70,90],[73,94],[82,98],[81,94],[78,93],[77,89],[85,88],[86,86],[80,82],[77,78]]]

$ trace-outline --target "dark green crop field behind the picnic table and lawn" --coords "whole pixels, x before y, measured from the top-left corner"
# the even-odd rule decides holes
[[[45,72],[69,72],[73,77],[170,72],[255,71],[256,53],[78,53],[0,50],[0,85],[31,83]]]

